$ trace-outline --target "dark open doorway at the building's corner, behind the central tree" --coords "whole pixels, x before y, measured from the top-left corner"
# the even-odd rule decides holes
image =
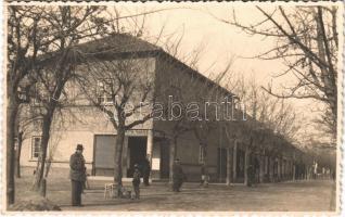
[[[127,177],[133,177],[135,164],[142,168],[146,157],[146,137],[128,137],[129,168],[127,168]],[[142,170],[141,170],[142,174]]]

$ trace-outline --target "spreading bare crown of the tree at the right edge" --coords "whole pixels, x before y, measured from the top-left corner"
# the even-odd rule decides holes
[[[221,20],[241,28],[248,35],[273,38],[277,46],[260,53],[256,59],[281,60],[286,71],[277,77],[292,76],[296,82],[283,87],[278,93],[271,85],[264,89],[281,99],[314,99],[325,105],[319,123],[328,126],[333,137],[336,132],[337,102],[337,7],[278,7],[268,11],[256,7],[264,16],[254,24],[232,18]]]

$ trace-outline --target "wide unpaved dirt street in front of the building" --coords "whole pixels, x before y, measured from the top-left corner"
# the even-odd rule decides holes
[[[141,200],[103,197],[104,183],[90,180],[90,190],[82,194],[84,207],[71,206],[71,182],[65,173],[54,170],[48,180],[47,196],[64,210],[334,210],[334,181],[315,180],[265,183],[256,188],[184,183],[180,193],[174,193],[165,182],[141,188]],[[26,171],[17,179],[18,200],[30,194],[33,177]],[[130,182],[126,182],[130,188]],[[333,195],[332,195],[333,194]],[[333,197],[332,197],[333,196]]]

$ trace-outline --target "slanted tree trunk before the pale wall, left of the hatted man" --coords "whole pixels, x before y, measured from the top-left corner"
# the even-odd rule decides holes
[[[47,150],[48,150],[48,143],[50,138],[50,127],[53,119],[53,110],[47,112],[47,114],[43,116],[43,124],[42,124],[42,139],[41,139],[41,150],[40,155],[38,159],[38,168],[36,170],[36,178],[34,182],[34,190],[39,191],[42,183],[42,178],[44,174],[44,166],[46,166],[46,158],[47,158]]]

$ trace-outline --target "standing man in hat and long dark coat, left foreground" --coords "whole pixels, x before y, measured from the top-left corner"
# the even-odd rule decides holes
[[[86,181],[86,167],[82,156],[82,144],[77,144],[77,150],[69,158],[69,178],[72,182],[72,205],[81,205],[81,192]]]

